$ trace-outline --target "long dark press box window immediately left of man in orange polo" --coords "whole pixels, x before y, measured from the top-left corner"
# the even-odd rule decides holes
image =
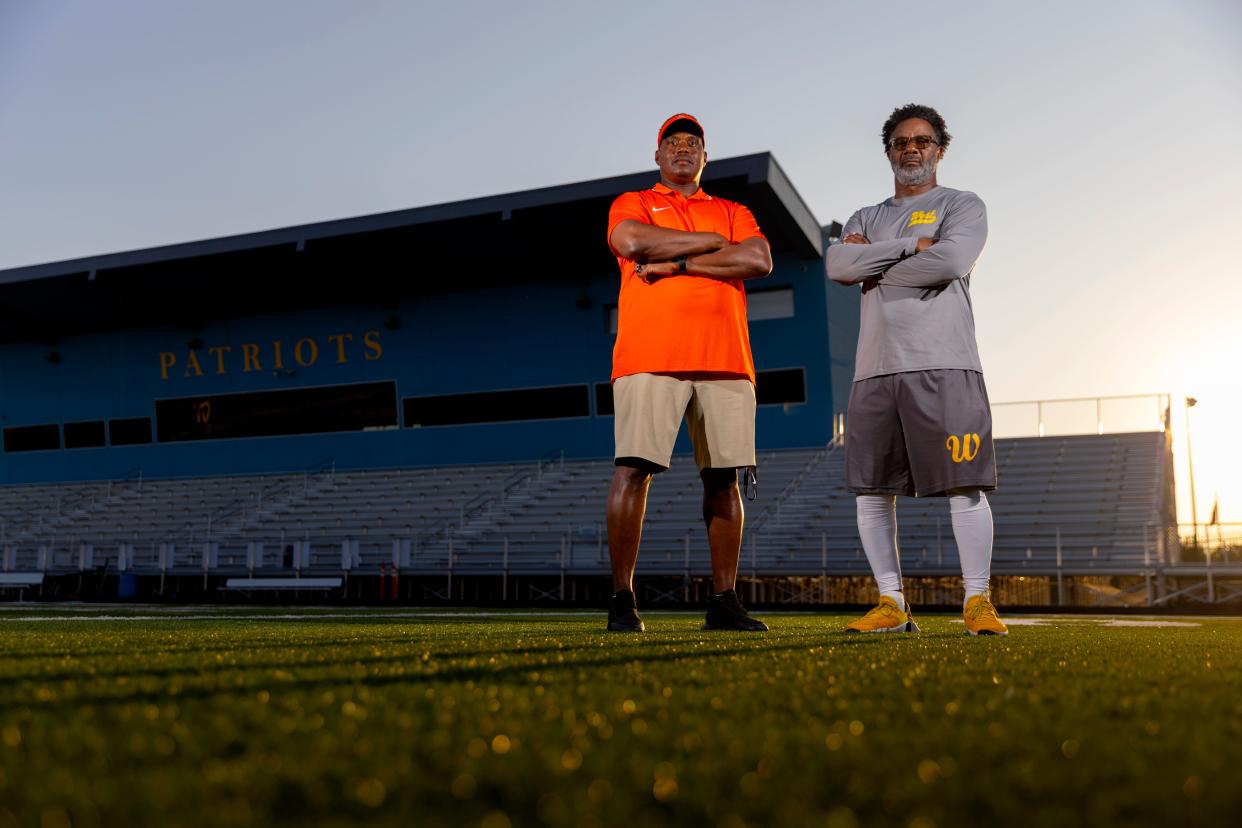
[[[585,385],[563,385],[550,389],[405,397],[401,405],[406,428],[465,426],[483,422],[589,417],[591,416],[589,394]]]

